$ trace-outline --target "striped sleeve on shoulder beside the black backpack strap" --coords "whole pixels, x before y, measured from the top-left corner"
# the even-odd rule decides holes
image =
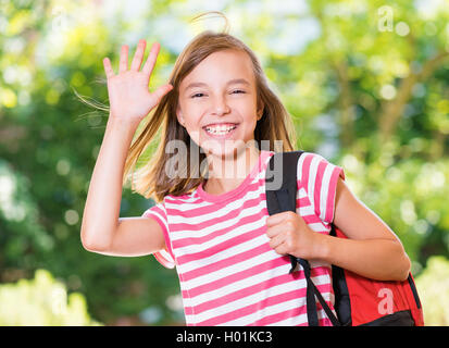
[[[305,190],[315,214],[326,223],[334,221],[338,177],[345,179],[342,167],[322,156],[304,152],[298,161],[298,179]]]

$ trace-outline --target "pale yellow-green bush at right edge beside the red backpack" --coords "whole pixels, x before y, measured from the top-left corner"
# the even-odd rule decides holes
[[[423,306],[424,322],[431,326],[449,325],[449,260],[437,256],[415,279]]]

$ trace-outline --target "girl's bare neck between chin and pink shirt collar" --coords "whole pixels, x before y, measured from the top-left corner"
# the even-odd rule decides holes
[[[209,178],[203,189],[210,195],[223,195],[237,188],[258,163],[260,150],[255,147],[245,148],[234,156],[223,159],[208,157]]]

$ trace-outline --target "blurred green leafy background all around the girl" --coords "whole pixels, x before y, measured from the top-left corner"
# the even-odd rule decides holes
[[[402,240],[427,324],[449,324],[446,0],[0,0],[0,325],[183,325],[176,272],[86,251],[79,229],[108,112],[102,59],[159,41],[151,89],[222,18],[295,117],[297,148]],[[147,45],[146,57],[149,51]],[[123,191],[121,216],[153,202]]]

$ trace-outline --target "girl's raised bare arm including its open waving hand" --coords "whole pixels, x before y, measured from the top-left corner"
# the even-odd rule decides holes
[[[119,74],[108,58],[103,60],[108,77],[110,115],[103,141],[90,179],[83,213],[80,238],[85,249],[116,256],[151,253],[165,245],[162,229],[152,219],[119,219],[124,165],[140,121],[173,87],[148,89],[159,44],[154,44],[140,72],[146,41],[140,40],[128,69],[128,47],[122,46]]]

